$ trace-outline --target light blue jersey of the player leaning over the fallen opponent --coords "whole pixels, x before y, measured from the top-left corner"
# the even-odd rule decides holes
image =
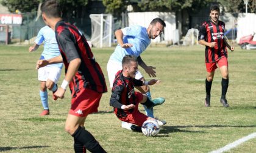
[[[127,49],[122,48],[119,44],[116,46],[115,52],[110,56],[110,60],[122,62],[125,55],[140,56],[144,50],[149,46],[151,39],[149,39],[147,29],[140,25],[132,27],[125,27],[121,29],[124,38],[124,43],[130,43],[133,46]]]

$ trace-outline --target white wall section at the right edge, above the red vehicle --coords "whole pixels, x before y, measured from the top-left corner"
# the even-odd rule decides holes
[[[256,14],[255,13],[239,13],[237,19],[237,38],[236,42],[242,36],[250,35],[256,32]]]

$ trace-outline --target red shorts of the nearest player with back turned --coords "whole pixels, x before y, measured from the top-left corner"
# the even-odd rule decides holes
[[[76,97],[71,99],[71,109],[69,114],[77,117],[87,117],[88,114],[98,112],[99,101],[102,93],[94,90],[82,88],[76,93]]]

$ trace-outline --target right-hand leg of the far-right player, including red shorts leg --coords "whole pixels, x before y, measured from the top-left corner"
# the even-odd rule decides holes
[[[227,88],[229,87],[229,69],[228,69],[228,63],[227,58],[221,58],[218,62],[219,69],[221,70],[221,100],[220,102],[224,107],[229,107],[229,104],[226,100],[226,94],[227,94]]]

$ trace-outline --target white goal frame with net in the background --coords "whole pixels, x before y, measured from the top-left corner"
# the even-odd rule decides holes
[[[112,22],[110,14],[91,14],[91,44],[94,47],[111,47],[112,45]]]

